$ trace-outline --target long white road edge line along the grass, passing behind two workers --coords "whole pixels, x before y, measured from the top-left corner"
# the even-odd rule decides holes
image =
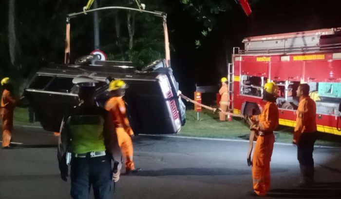
[[[174,136],[174,135],[155,135],[155,134],[138,134],[138,135],[139,135],[139,136],[152,136],[152,137],[166,137],[166,138],[182,138],[182,139],[202,139],[202,140],[215,140],[215,141],[249,142],[248,140],[243,140],[243,139],[203,138],[203,137]],[[283,143],[283,142],[275,142],[274,144],[276,144],[276,145],[292,146],[292,144]],[[315,147],[315,148],[341,149],[341,147],[335,147],[335,146],[314,145],[314,147]]]

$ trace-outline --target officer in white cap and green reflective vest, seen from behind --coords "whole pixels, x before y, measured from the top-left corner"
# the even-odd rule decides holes
[[[79,86],[81,103],[61,125],[57,155],[60,177],[67,181],[71,157],[72,198],[88,199],[92,185],[95,199],[109,199],[112,181],[119,179],[122,165],[113,119],[108,111],[95,105],[95,80],[78,77],[73,82]]]

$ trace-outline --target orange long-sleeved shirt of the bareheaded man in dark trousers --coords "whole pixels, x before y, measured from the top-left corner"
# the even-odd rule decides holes
[[[309,96],[302,96],[296,111],[293,142],[298,143],[303,133],[316,131],[316,103]]]

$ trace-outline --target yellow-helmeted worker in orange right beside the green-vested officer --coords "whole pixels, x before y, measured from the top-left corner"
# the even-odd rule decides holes
[[[109,83],[108,91],[112,96],[105,103],[105,109],[109,111],[114,119],[118,144],[122,154],[125,156],[126,174],[135,173],[136,169],[133,161],[133,141],[134,132],[126,116],[126,105],[123,100],[127,84],[123,80],[112,80]]]

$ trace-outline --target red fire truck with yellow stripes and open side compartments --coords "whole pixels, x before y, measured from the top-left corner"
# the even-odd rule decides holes
[[[274,81],[279,122],[295,126],[296,90],[304,82],[316,102],[318,131],[341,135],[341,28],[248,37],[243,43],[244,50],[233,48],[228,65],[231,112],[260,114],[262,87]]]

